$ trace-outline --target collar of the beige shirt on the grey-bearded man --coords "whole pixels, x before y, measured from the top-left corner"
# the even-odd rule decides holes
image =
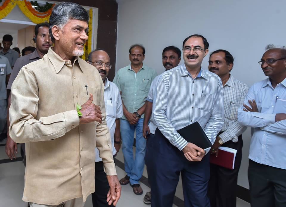
[[[54,47],[50,47],[47,55],[48,55],[49,60],[52,62],[56,73],[59,73],[65,64],[69,65],[70,60],[63,60],[57,53],[53,51],[53,49]],[[82,63],[80,63],[79,60],[80,60],[79,56],[76,56],[74,59],[74,64],[76,63],[76,61],[78,61],[80,69],[81,71],[83,71],[82,70],[83,65]]]

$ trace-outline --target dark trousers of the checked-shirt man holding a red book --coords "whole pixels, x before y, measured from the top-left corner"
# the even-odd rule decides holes
[[[242,158],[243,141],[241,135],[238,142],[227,141],[221,145],[237,150],[234,169],[228,169],[215,164],[210,164],[210,178],[208,197],[211,207],[235,207],[237,176]],[[218,154],[218,157],[220,154]]]

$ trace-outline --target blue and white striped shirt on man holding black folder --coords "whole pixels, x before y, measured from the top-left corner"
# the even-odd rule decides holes
[[[177,130],[199,122],[211,143],[223,126],[223,85],[216,74],[203,70],[195,79],[180,65],[162,74],[156,96],[153,115],[162,134],[182,150],[188,142]],[[210,148],[205,149],[206,153]]]

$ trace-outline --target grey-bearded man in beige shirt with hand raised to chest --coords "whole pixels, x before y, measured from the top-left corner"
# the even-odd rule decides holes
[[[24,66],[11,90],[11,138],[26,143],[23,200],[31,207],[81,207],[94,192],[95,147],[100,151],[116,205],[121,186],[105,120],[104,85],[79,58],[88,39],[88,12],[60,2],[49,18],[55,46]]]

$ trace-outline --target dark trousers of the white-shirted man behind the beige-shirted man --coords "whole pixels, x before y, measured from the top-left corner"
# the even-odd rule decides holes
[[[103,162],[95,163],[95,192],[91,194],[93,207],[110,207],[106,201],[109,184],[106,173],[103,170]],[[111,207],[114,207],[111,204]]]

